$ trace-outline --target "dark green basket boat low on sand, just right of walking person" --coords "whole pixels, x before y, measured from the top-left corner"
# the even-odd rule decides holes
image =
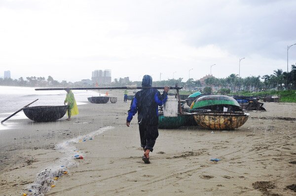
[[[158,116],[158,128],[159,129],[178,129],[185,125],[185,115],[178,115],[177,117],[165,117],[163,114]]]

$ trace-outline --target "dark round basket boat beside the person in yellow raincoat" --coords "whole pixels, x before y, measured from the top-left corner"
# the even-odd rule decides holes
[[[23,109],[25,115],[36,122],[52,122],[62,118],[67,112],[68,105],[34,106]]]

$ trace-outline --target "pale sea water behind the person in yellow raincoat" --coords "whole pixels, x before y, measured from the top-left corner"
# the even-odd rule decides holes
[[[88,97],[101,95],[99,91],[86,90],[74,90],[73,93],[77,105],[87,103]],[[35,91],[34,87],[0,86],[0,121],[37,98],[30,106],[64,105],[66,94],[66,91]],[[12,118],[20,119],[26,116],[21,111]]]

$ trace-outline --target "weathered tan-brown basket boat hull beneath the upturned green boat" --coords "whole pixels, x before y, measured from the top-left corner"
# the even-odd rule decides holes
[[[247,114],[236,114],[226,112],[205,112],[193,114],[195,122],[210,130],[234,130],[246,123]]]

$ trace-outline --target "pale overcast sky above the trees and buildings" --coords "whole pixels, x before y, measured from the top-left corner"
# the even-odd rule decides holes
[[[214,64],[225,78],[240,58],[241,77],[262,76],[287,71],[295,43],[296,0],[0,0],[0,76],[13,79],[186,81]]]

